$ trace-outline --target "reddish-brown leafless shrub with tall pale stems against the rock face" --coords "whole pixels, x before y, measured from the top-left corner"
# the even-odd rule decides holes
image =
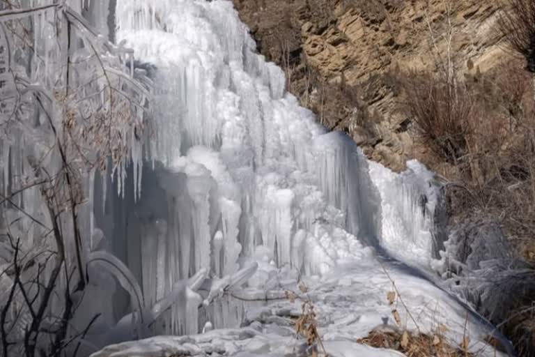
[[[458,70],[458,58],[452,50],[454,29],[451,20],[451,1],[442,1],[446,16],[445,29],[437,32],[426,11],[429,50],[435,73],[409,70],[397,82],[406,99],[403,109],[415,133],[438,158],[458,165],[470,151],[467,138],[474,130],[477,112],[474,97]],[[445,44],[444,50],[439,42]]]

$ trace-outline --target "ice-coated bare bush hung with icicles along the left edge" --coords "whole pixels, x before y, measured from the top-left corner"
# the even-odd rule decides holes
[[[0,16],[7,53],[16,49],[8,57],[14,104],[0,113],[0,146],[21,153],[2,162],[0,179],[0,356],[76,356],[100,317],[83,327],[76,317],[88,291],[79,213],[89,173],[108,158],[124,172],[132,147],[141,148],[150,93],[127,73],[125,53],[68,6],[45,6],[50,22],[31,31],[44,8],[0,5],[10,9]],[[22,150],[21,142],[34,147]]]

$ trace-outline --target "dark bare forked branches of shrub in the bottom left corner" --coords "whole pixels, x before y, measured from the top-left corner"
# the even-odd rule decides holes
[[[65,267],[63,247],[57,252],[26,250],[20,238],[9,233],[1,238],[8,241],[13,261],[0,271],[0,282],[3,287],[8,286],[2,291],[5,296],[0,312],[0,356],[64,356],[67,351],[76,356],[80,339],[99,315],[82,331],[72,331],[69,321],[78,307],[73,299],[78,288],[72,285],[74,272],[65,271],[66,284],[59,283]],[[50,266],[52,273],[48,274]],[[55,310],[59,301],[63,308]]]

